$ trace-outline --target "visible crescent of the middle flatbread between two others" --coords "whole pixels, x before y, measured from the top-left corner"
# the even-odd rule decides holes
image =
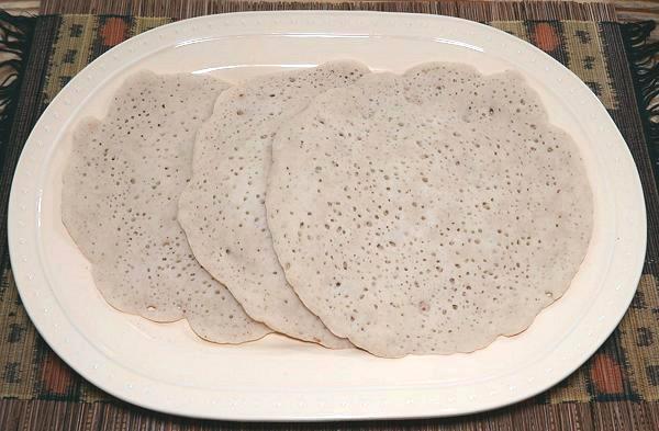
[[[265,207],[270,141],[312,98],[368,71],[334,61],[257,77],[222,93],[199,132],[193,175],[179,201],[179,222],[194,256],[254,319],[330,348],[351,344],[304,307],[272,250]]]

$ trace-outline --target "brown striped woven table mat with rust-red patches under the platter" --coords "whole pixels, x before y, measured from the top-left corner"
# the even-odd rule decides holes
[[[280,9],[439,13],[484,22],[538,46],[600,98],[640,170],[649,243],[632,307],[587,364],[533,399],[470,417],[273,426],[196,421],[129,406],[86,382],[51,351],[21,305],[7,250],[11,178],[40,114],[80,69],[135,34],[199,14]],[[43,13],[0,15],[5,53],[0,69],[11,73],[0,88],[0,430],[659,430],[659,125],[652,122],[659,115],[652,103],[659,68],[651,59],[659,46],[646,43],[651,23],[622,25],[611,5],[573,2],[49,0]]]

